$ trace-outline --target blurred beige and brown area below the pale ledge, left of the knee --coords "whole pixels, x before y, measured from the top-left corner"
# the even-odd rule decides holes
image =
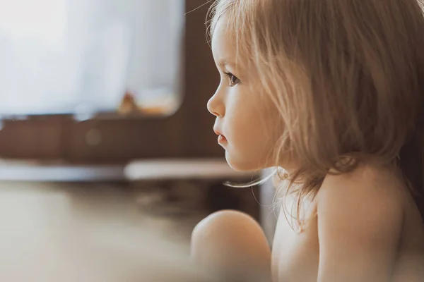
[[[189,267],[189,235],[204,216],[258,216],[252,190],[220,183],[0,182],[0,281],[171,281],[166,269]]]

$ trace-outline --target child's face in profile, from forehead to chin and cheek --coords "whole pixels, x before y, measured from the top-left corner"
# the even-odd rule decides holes
[[[235,64],[235,47],[225,26],[225,18],[221,18],[213,32],[212,52],[220,84],[208,102],[208,110],[216,116],[214,130],[222,136],[218,142],[235,170],[273,166],[272,150],[278,131],[275,107],[257,87],[254,70]],[[269,130],[270,126],[274,126],[273,130]]]

